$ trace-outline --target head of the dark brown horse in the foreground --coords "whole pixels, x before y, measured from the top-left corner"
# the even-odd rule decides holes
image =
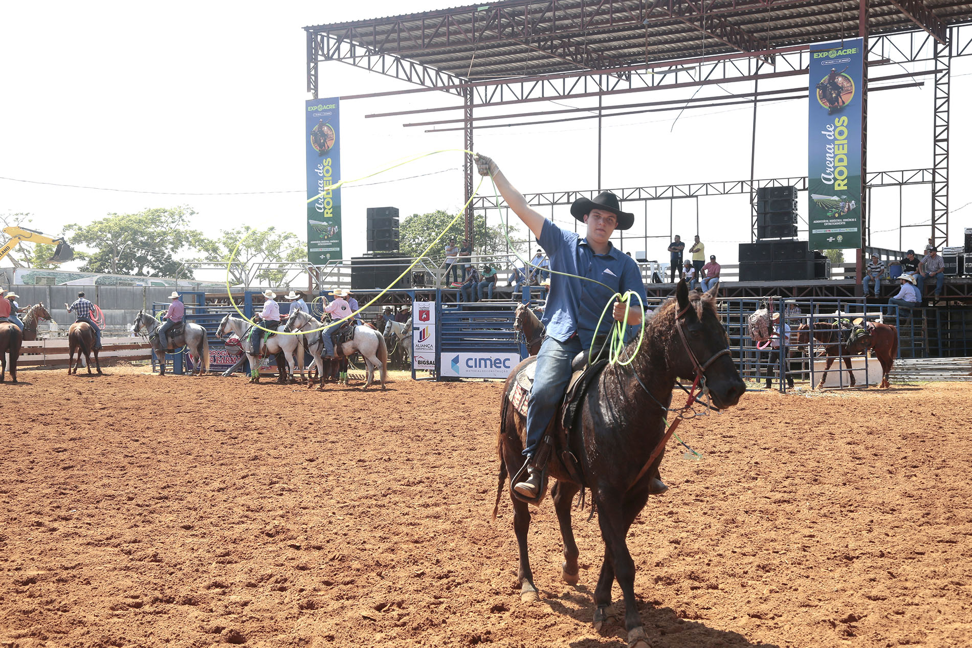
[[[690,292],[684,280],[678,282],[675,304],[669,306],[675,311],[674,330],[670,331],[675,339],[667,345],[671,350],[668,361],[677,376],[704,376],[716,407],[732,407],[746,392],[746,383],[729,352],[729,336],[715,309],[717,290],[716,284],[707,292]]]

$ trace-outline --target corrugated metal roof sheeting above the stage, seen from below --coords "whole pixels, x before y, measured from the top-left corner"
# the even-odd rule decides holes
[[[695,13],[698,4],[504,0],[304,29],[474,80],[609,70],[857,34],[857,2],[715,0],[704,15]],[[925,0],[924,7],[946,26],[972,22],[970,2]],[[872,34],[920,29],[889,0],[871,0],[868,25]]]

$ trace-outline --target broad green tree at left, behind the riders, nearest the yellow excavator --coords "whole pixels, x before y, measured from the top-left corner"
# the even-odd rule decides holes
[[[110,272],[143,277],[191,277],[174,258],[196,247],[201,232],[189,227],[191,207],[156,207],[138,214],[109,214],[89,225],[70,224],[72,244],[93,251],[83,272]]]

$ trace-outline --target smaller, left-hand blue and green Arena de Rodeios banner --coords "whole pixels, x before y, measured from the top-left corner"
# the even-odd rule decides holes
[[[337,97],[307,101],[307,260],[323,265],[341,258],[341,136]],[[313,200],[311,199],[313,198]]]

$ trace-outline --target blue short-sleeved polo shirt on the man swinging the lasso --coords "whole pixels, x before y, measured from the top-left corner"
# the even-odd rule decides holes
[[[576,333],[584,349],[588,349],[594,339],[594,328],[598,325],[601,312],[615,291],[624,294],[628,290],[634,290],[642,297],[642,301],[645,299],[638,263],[613,245],[608,243],[608,254],[595,254],[586,239],[572,231],[561,229],[549,220],[543,222],[538,243],[550,257],[551,270],[594,279],[610,287],[608,289],[576,277],[551,277],[550,295],[543,312],[547,335],[566,342]],[[609,325],[613,321],[608,310],[599,332],[608,333]]]

